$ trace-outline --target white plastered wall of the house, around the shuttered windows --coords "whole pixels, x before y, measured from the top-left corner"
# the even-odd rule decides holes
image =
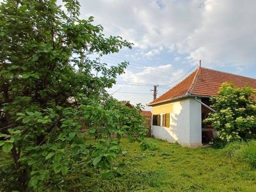
[[[152,126],[152,135],[155,138],[171,143],[177,141],[180,145],[188,147],[202,145],[201,104],[196,102],[195,98],[187,97],[169,104],[154,106],[152,113],[160,114],[161,117],[165,113],[170,113],[170,127],[162,126],[162,118],[160,126]]]

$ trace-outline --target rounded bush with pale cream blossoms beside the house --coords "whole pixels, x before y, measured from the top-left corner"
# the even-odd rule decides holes
[[[256,134],[256,102],[252,95],[253,88],[248,85],[236,88],[233,83],[223,83],[218,97],[212,97],[212,108],[205,120],[216,129],[223,143],[237,140],[250,140]]]

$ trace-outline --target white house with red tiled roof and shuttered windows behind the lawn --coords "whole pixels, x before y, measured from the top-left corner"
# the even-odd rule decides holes
[[[216,136],[211,125],[202,120],[211,111],[209,98],[216,96],[224,82],[237,87],[246,83],[256,88],[256,79],[237,76],[208,68],[197,68],[182,82],[148,104],[152,106],[152,135],[191,148],[202,146]]]

